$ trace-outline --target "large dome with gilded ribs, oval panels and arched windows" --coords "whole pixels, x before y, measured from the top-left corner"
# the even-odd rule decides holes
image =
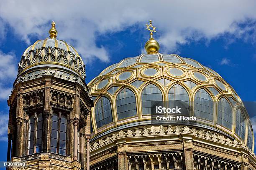
[[[161,53],[125,58],[88,87],[94,100],[92,140],[149,125],[150,101],[182,101],[197,121],[174,124],[209,129],[253,150],[253,130],[240,97],[217,72],[195,60]]]

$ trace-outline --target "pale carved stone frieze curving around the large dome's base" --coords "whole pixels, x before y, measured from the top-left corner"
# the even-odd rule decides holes
[[[230,140],[230,138],[225,138],[223,135],[219,135],[217,133],[211,133],[210,131],[204,132],[202,130],[196,130],[195,128],[189,128],[185,126],[184,128],[180,128],[177,126],[174,130],[169,127],[167,130],[164,130],[161,126],[155,127],[152,126],[151,130],[148,131],[147,129],[141,131],[136,128],[134,131],[127,130],[127,132],[119,131],[117,134],[113,134],[111,137],[107,137],[105,140],[99,140],[98,142],[93,143],[90,146],[90,151],[100,148],[108,143],[112,143],[115,139],[118,138],[136,138],[136,137],[143,137],[143,136],[161,136],[161,135],[182,135],[182,134],[191,134],[196,136],[197,138],[203,138],[206,140],[212,140],[218,143],[224,143],[227,145],[231,145],[234,147],[242,147],[246,150],[249,150],[248,147],[243,143],[238,143],[237,140]]]

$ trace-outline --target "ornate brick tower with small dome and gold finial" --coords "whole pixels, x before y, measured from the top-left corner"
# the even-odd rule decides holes
[[[78,52],[49,38],[29,46],[18,64],[10,106],[7,160],[25,169],[89,169],[90,108],[85,66]]]

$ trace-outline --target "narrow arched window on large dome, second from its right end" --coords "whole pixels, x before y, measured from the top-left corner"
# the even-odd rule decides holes
[[[244,140],[246,132],[246,122],[243,112],[238,109],[236,110],[236,134]]]

